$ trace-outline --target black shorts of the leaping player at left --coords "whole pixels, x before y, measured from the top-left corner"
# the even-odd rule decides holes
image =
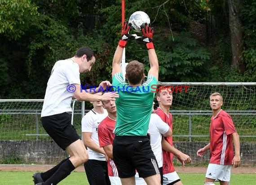
[[[80,139],[75,128],[71,125],[71,116],[64,112],[41,118],[44,130],[63,150]]]

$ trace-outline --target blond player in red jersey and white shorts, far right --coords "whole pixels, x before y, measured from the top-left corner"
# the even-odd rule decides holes
[[[204,185],[214,185],[220,181],[221,185],[230,184],[231,166],[240,166],[240,142],[234,123],[228,113],[221,109],[223,105],[220,93],[210,96],[212,118],[210,124],[210,143],[197,151],[202,157],[210,149],[210,163],[207,168]],[[235,155],[232,137],[234,139]]]

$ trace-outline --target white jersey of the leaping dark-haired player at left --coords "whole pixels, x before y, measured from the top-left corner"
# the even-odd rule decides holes
[[[71,59],[57,61],[52,69],[44,96],[41,117],[72,112],[73,93],[67,91],[70,84],[80,84],[79,66]]]

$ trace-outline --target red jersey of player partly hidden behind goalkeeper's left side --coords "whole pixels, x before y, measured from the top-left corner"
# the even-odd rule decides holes
[[[113,145],[115,138],[115,120],[110,117],[106,117],[98,125],[98,137],[100,147]],[[117,168],[113,159],[109,159],[107,162],[108,176],[118,176]]]

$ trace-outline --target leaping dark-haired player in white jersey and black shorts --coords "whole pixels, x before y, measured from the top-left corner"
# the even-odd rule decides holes
[[[70,155],[44,173],[34,173],[35,185],[57,185],[60,181],[88,160],[88,153],[75,128],[71,125],[71,99],[80,101],[115,100],[116,93],[97,96],[81,91],[80,73],[90,71],[96,61],[90,48],[82,47],[75,56],[55,63],[47,83],[44,105],[41,112],[42,125],[50,137]],[[110,82],[102,82],[99,89],[105,89]]]

